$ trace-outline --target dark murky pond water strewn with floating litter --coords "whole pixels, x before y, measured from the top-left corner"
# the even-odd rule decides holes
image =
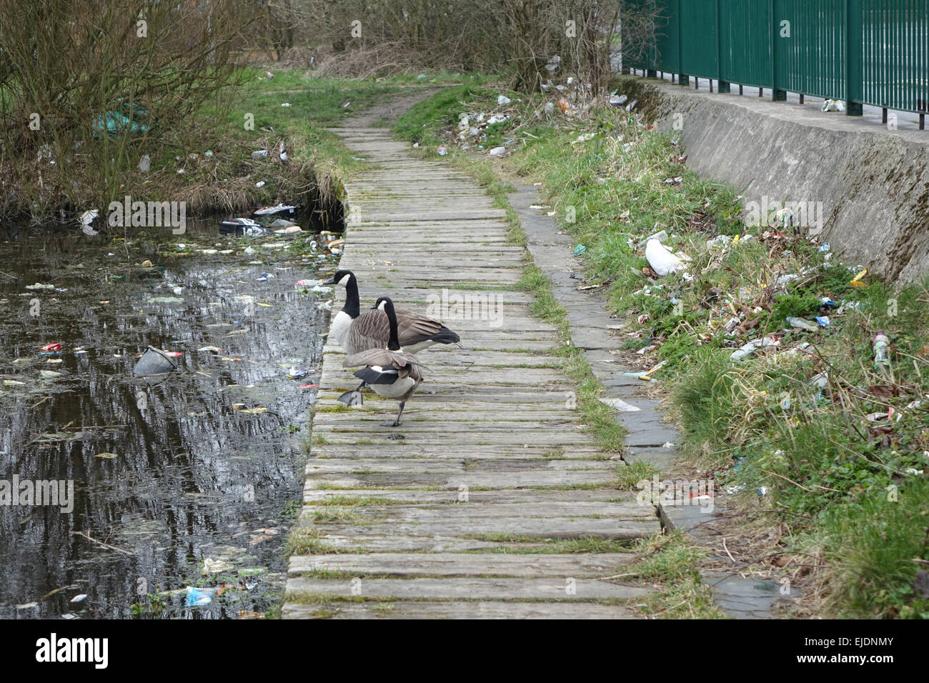
[[[302,386],[331,299],[295,282],[336,257],[216,223],[157,244],[0,241],[0,617],[236,618],[279,602],[315,398]],[[148,345],[180,351],[177,372],[134,377]],[[39,481],[72,481],[72,511],[30,506],[22,482]],[[187,586],[208,604],[188,605]]]

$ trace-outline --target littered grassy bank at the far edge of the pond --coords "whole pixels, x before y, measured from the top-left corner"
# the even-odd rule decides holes
[[[0,204],[0,211],[29,214],[41,204],[46,217],[57,215],[59,208],[74,217],[94,206],[105,209],[126,194],[134,201],[186,202],[189,216],[299,198],[334,202],[340,179],[361,163],[325,127],[404,91],[467,78],[441,72],[423,79],[359,81],[315,78],[308,70],[293,69],[275,70],[268,79],[263,68],[244,68],[238,76],[240,85],[229,86],[216,99],[231,104],[204,107],[183,131],[154,124],[144,136],[100,139],[88,134],[87,145],[94,149],[85,145],[63,161],[54,155],[37,162],[32,157],[21,163],[7,160],[14,164],[9,166],[12,201]],[[287,163],[281,163],[275,149],[281,142],[290,157]],[[268,150],[267,158],[252,157],[262,149]],[[128,170],[111,177],[92,163],[98,151],[111,153],[107,150],[127,154]],[[137,167],[144,155],[150,157],[148,171]],[[259,182],[264,182],[260,188]]]

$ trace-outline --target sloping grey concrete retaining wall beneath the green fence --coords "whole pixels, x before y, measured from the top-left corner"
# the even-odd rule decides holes
[[[892,281],[929,274],[929,131],[635,76],[620,84],[660,130],[683,125],[687,165],[735,187],[747,209],[811,202],[823,211],[818,238],[844,261]]]

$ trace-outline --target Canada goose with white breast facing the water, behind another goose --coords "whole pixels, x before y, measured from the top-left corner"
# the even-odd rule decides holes
[[[336,270],[323,284],[341,284],[346,288],[346,303],[333,319],[332,334],[347,354],[373,348],[385,348],[389,333],[386,315],[371,309],[360,315],[358,281],[351,270]],[[399,344],[410,353],[418,353],[433,344],[457,344],[461,337],[441,322],[412,310],[395,309]]]

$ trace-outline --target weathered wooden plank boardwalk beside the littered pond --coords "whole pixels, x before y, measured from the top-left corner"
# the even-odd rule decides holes
[[[347,186],[341,266],[362,309],[387,295],[425,312],[443,290],[493,306],[439,316],[464,348],[419,354],[425,382],[398,428],[379,425],[397,403],[368,392],[363,408],[333,410],[358,380],[327,345],[294,527],[307,554],[290,558],[283,616],[631,617],[646,590],[604,578],[634,557],[572,551],[658,533],[659,520],[612,487],[622,461],[569,408],[572,386],[547,355],[556,331],[514,290],[525,250],[507,243],[504,211],[383,128],[337,132],[372,164]],[[498,302],[503,319],[487,320]]]

